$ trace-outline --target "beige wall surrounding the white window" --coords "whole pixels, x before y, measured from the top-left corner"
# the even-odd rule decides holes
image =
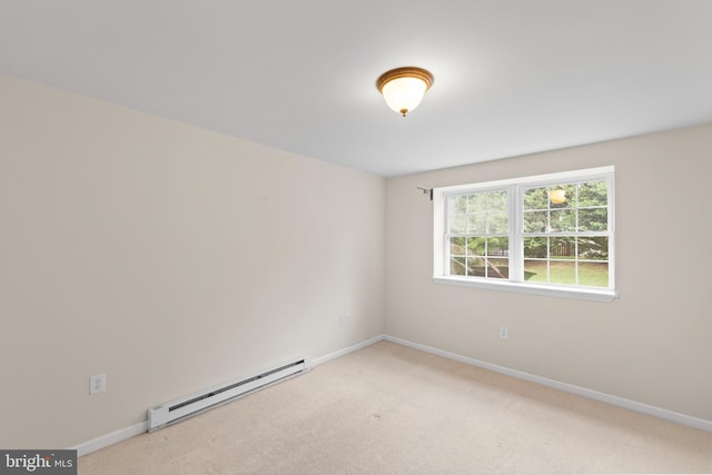
[[[432,281],[416,189],[615,166],[620,298],[594,303]],[[712,419],[712,126],[392,178],[387,334]],[[510,337],[498,338],[506,326]]]

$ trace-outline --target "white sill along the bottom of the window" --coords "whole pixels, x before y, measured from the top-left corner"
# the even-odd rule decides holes
[[[534,284],[511,283],[508,280],[479,280],[467,277],[433,277],[437,284],[476,287],[488,290],[513,291],[517,294],[538,295],[545,297],[575,298],[580,300],[612,301],[617,297],[615,290],[543,286]]]

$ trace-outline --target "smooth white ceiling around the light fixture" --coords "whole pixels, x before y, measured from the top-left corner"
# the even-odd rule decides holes
[[[0,0],[0,65],[396,176],[710,122],[711,23],[710,0]],[[375,88],[400,66],[435,76],[406,119]]]

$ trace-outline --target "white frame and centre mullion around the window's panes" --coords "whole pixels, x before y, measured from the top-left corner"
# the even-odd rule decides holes
[[[522,276],[524,266],[524,206],[522,190],[524,188],[570,184],[572,181],[606,180],[607,216],[609,216],[609,287],[565,286],[554,284],[532,284],[524,281]],[[515,291],[533,295],[580,298],[586,300],[611,301],[615,293],[615,194],[614,167],[599,167],[583,170],[564,171],[558,174],[538,175],[507,180],[487,181],[479,184],[458,185],[433,189],[434,218],[434,253],[433,279],[438,284],[478,287],[492,290]],[[467,192],[482,192],[496,189],[508,191],[510,204],[510,275],[508,279],[484,278],[474,276],[447,275],[446,220],[447,197]]]

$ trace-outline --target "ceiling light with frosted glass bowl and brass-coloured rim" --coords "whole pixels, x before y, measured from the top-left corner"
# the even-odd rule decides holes
[[[408,66],[384,72],[376,81],[376,87],[388,107],[405,117],[418,107],[434,80],[429,71]]]

